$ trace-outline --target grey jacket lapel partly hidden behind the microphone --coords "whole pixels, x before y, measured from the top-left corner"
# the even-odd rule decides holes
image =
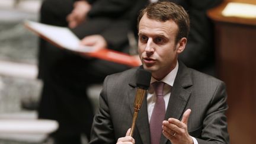
[[[136,91],[137,91],[136,76],[134,76],[134,78],[131,78],[131,81],[129,83],[130,91],[129,91],[128,97],[129,97],[130,110],[131,110],[132,116],[133,116],[133,113],[134,113],[134,101],[135,101],[135,95],[136,95]],[[145,98],[143,100],[142,107],[140,108],[139,114],[137,116],[135,131],[136,130],[139,132],[139,135],[140,135],[143,143],[145,143],[145,144],[150,143],[150,132],[149,132],[146,95],[145,95]],[[134,134],[136,135],[136,133],[134,133]]]

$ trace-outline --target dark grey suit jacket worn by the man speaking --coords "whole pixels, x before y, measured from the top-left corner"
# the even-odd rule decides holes
[[[136,94],[137,68],[107,76],[100,94],[100,108],[92,124],[91,144],[116,143],[131,127],[133,103]],[[191,108],[188,132],[199,143],[229,143],[225,112],[225,84],[179,63],[179,69],[171,89],[165,119],[181,120]],[[135,143],[149,144],[150,132],[146,98],[136,121],[133,137]],[[171,143],[163,135],[161,144]]]

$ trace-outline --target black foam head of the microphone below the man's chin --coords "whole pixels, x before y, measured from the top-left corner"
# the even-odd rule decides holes
[[[151,72],[145,69],[138,69],[136,85],[142,89],[148,89],[151,82]]]

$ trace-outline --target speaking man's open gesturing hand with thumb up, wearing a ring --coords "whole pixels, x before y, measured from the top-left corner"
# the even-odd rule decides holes
[[[183,119],[177,120],[174,118],[169,118],[168,120],[163,121],[162,129],[163,134],[167,139],[171,140],[171,143],[182,144],[182,143],[191,143],[193,144],[193,139],[188,134],[187,122],[188,117],[190,116],[191,110],[188,109],[183,114]]]

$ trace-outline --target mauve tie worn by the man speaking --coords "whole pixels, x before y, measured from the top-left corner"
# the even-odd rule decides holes
[[[162,121],[165,118],[164,82],[153,82],[156,103],[150,120],[151,144],[159,144],[162,135]]]

